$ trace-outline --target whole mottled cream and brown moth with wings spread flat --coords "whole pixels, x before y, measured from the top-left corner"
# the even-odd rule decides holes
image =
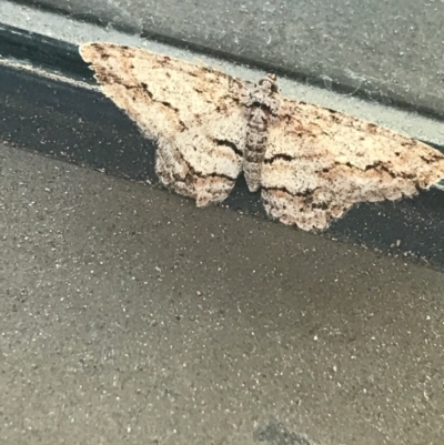
[[[444,155],[411,138],[167,55],[85,43],[102,91],[157,141],[160,181],[198,206],[220,203],[243,171],[269,215],[324,230],[360,202],[413,196],[444,178]]]

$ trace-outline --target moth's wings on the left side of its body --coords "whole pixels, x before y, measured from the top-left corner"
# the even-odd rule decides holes
[[[221,202],[242,169],[242,81],[220,71],[112,43],[85,43],[102,91],[158,141],[157,173],[198,205]]]

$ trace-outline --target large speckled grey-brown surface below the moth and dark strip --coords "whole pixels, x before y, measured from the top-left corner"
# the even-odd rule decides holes
[[[442,274],[4,145],[0,165],[1,444],[442,444]]]

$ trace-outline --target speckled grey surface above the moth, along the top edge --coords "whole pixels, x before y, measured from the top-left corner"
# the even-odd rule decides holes
[[[444,112],[444,3],[21,0]]]

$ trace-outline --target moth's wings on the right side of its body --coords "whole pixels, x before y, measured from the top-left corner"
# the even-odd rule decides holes
[[[326,229],[360,202],[413,196],[444,178],[444,155],[393,131],[284,100],[262,169],[266,212],[303,230]]]

